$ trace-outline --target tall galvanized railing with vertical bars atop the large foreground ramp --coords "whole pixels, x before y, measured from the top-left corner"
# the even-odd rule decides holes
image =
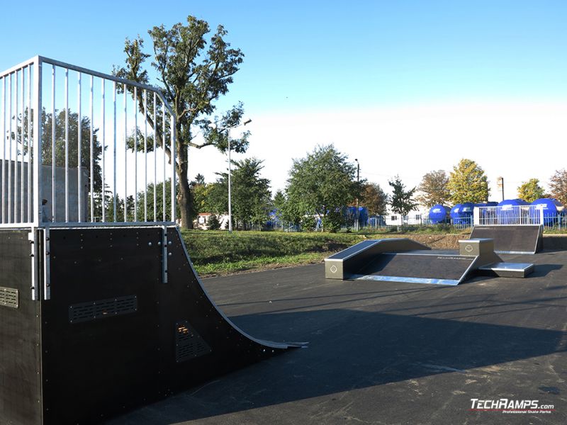
[[[0,227],[176,220],[175,115],[159,90],[34,57],[0,73]]]

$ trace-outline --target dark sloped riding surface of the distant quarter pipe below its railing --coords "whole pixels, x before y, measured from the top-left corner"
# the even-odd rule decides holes
[[[539,226],[475,226],[471,239],[494,239],[494,251],[534,254],[541,249]]]

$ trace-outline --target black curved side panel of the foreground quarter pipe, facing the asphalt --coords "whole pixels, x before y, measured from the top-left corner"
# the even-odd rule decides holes
[[[176,228],[167,229],[163,283],[162,237],[161,228],[51,229],[46,425],[97,423],[288,348],[252,339],[226,319]]]

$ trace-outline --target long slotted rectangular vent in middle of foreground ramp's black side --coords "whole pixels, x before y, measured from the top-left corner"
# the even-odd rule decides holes
[[[69,305],[69,323],[90,322],[137,311],[136,295]]]

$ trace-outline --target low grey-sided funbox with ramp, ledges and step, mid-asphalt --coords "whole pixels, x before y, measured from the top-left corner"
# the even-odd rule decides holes
[[[459,251],[432,250],[411,239],[359,242],[325,259],[325,277],[459,285],[473,273],[524,277],[533,264],[505,263],[493,239],[459,241]]]

